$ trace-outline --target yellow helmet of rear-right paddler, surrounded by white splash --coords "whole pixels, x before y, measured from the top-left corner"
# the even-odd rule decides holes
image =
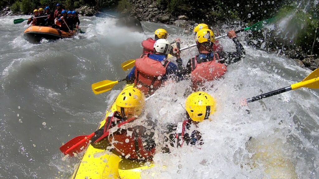
[[[186,111],[193,121],[202,122],[215,112],[215,100],[203,91],[190,94],[186,99]]]

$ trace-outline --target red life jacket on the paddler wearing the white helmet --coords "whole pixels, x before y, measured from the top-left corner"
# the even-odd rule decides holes
[[[152,95],[161,85],[161,78],[166,74],[166,68],[170,61],[156,61],[148,57],[136,59],[134,87],[145,95]],[[164,64],[162,64],[164,62]]]

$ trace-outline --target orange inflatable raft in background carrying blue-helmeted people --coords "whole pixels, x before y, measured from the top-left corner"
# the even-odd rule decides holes
[[[41,39],[56,40],[56,39],[70,38],[73,35],[75,35],[76,32],[77,30],[73,30],[73,34],[72,34],[70,32],[64,32],[52,27],[33,25],[28,27],[24,31],[23,36],[27,41],[31,43],[39,43]]]

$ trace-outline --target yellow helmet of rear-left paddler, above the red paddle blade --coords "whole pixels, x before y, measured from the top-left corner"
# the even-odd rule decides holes
[[[144,95],[139,89],[128,88],[115,100],[116,110],[124,118],[139,116],[145,105]]]

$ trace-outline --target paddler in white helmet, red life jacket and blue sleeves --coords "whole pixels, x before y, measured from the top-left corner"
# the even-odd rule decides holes
[[[126,76],[126,83],[134,82],[134,87],[140,89],[145,96],[152,95],[168,79],[169,75],[177,77],[176,80],[181,80],[182,77],[177,66],[167,60],[172,46],[166,39],[158,39],[153,49],[154,54],[145,54],[136,59],[135,66]],[[178,48],[173,50],[179,52]],[[182,61],[179,53],[176,53],[176,58],[176,61]]]

